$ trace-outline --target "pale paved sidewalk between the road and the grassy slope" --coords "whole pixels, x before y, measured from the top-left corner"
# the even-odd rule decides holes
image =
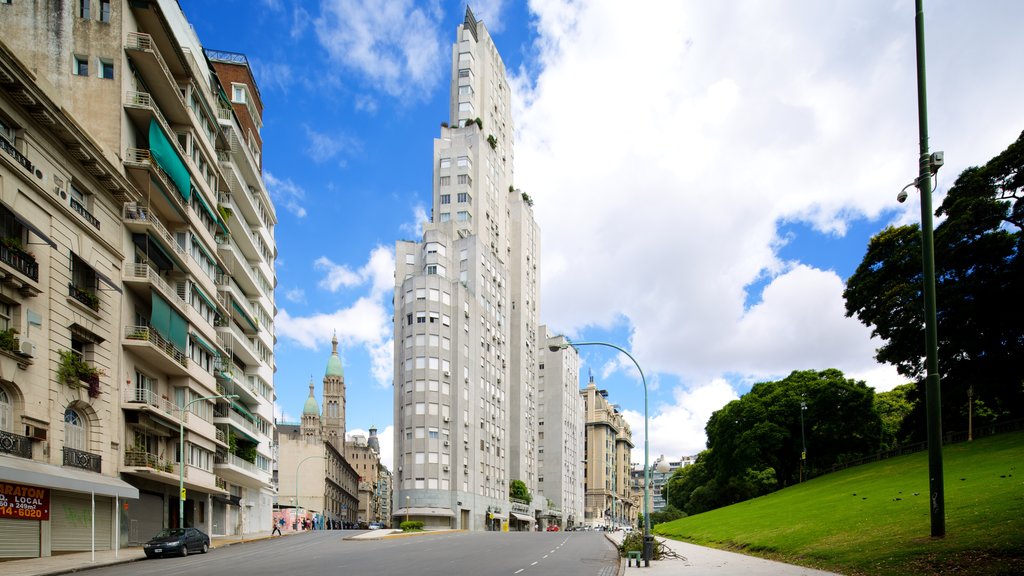
[[[605,534],[615,546],[622,543],[625,533],[608,532]],[[658,542],[665,544],[679,559],[652,560],[649,567],[627,566],[626,559],[618,563],[621,575],[673,575],[683,574],[684,569],[690,569],[693,574],[712,574],[714,576],[838,576],[833,572],[822,572],[813,568],[803,568],[792,564],[782,564],[760,558],[727,552],[716,548],[697,546],[677,540],[655,536]]]

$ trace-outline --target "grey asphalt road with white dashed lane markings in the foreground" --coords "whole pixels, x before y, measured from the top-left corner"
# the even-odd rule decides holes
[[[344,539],[357,533],[310,532],[207,554],[99,568],[89,575],[612,576],[618,565],[614,547],[600,533],[447,532]]]

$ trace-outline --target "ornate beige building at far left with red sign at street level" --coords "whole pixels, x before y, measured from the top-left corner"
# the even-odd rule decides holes
[[[139,193],[6,43],[15,9],[0,3],[0,560],[124,544],[139,495],[119,477],[121,206]]]

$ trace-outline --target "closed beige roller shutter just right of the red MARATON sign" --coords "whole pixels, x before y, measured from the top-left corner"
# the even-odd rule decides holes
[[[54,552],[92,549],[90,496],[53,494],[50,507],[50,549]],[[96,496],[96,549],[111,549],[113,500]]]

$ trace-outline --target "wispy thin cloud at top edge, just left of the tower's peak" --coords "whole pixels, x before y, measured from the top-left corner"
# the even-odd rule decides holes
[[[413,0],[325,0],[313,26],[331,57],[384,92],[421,99],[442,64],[439,5]]]

